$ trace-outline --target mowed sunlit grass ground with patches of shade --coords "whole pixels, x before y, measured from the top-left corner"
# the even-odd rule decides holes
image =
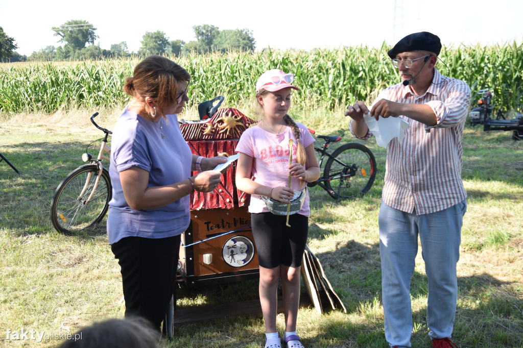
[[[252,105],[238,107],[253,115]],[[0,346],[54,346],[59,340],[6,340],[6,330],[72,332],[97,320],[119,316],[121,276],[105,234],[105,223],[77,236],[54,231],[52,194],[82,162],[88,143],[100,137],[88,121],[97,110],[67,114],[19,114],[0,120],[0,152],[18,175],[0,162]],[[100,111],[100,110],[98,110]],[[101,111],[109,129],[120,110]],[[194,119],[196,111],[182,115]],[[355,141],[343,110],[296,110],[293,115],[316,131]],[[311,190],[308,245],[347,308],[319,315],[302,307],[298,334],[306,347],[384,347],[378,213],[385,149],[363,142],[376,156],[378,175],[363,198],[337,203],[320,188]],[[458,263],[459,298],[453,341],[460,347],[523,346],[523,142],[509,132],[467,127],[463,180],[468,211]],[[415,347],[428,347],[427,285],[418,253],[412,280]],[[306,296],[302,288],[302,296]],[[178,306],[205,306],[257,298],[257,282],[209,286],[179,292]],[[283,315],[278,315],[283,329]],[[261,316],[228,317],[176,328],[162,347],[260,347]]]

